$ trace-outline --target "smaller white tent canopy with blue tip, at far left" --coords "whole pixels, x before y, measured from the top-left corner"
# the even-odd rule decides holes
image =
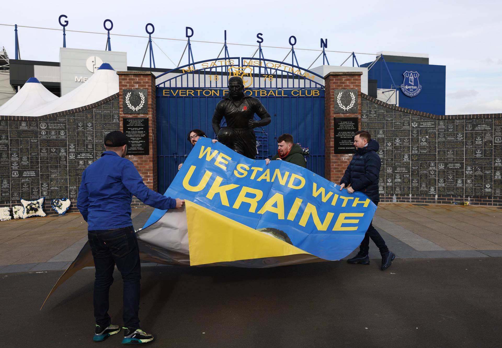
[[[22,116],[30,109],[41,107],[59,99],[45,88],[40,81],[31,77],[9,101],[0,106],[0,115]]]

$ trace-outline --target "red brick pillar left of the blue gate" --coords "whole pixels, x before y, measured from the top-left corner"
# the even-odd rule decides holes
[[[157,110],[155,98],[155,75],[144,71],[117,71],[118,75],[118,107],[120,110],[120,130],[123,131],[123,119],[129,117],[148,117],[148,155],[130,155],[130,159],[140,175],[143,177],[145,185],[157,191]],[[124,114],[123,113],[123,89],[146,89],[148,90],[148,111],[145,114]],[[162,192],[163,193],[163,192]],[[133,206],[144,206],[138,199],[133,199]]]

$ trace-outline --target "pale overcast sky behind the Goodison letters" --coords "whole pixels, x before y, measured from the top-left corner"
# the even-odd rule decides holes
[[[4,2],[0,23],[61,28],[58,17],[64,14],[67,29],[89,32],[105,33],[103,21],[110,19],[114,34],[143,36],[145,25],[153,23],[153,36],[162,38],[184,39],[188,26],[194,29],[193,40],[221,42],[227,30],[229,43],[255,45],[256,34],[263,33],[266,46],[286,47],[288,38],[295,35],[295,48],[319,49],[320,38],[327,38],[328,49],[334,51],[427,53],[430,64],[446,65],[446,113],[464,114],[502,112],[501,10],[497,1],[25,0]],[[69,32],[66,40],[71,48],[104,50],[106,44],[106,36],[95,34]],[[22,59],[59,61],[61,32],[20,28],[19,41]],[[178,63],[185,42],[154,41]],[[146,44],[144,38],[111,37],[113,51],[128,53],[129,66],[141,64]],[[12,27],[0,26],[0,46],[14,58]],[[214,58],[221,49],[221,45],[205,43],[192,47],[196,61]],[[229,45],[231,56],[250,56],[254,51],[253,47]],[[155,45],[154,52],[157,67],[173,67]],[[264,48],[264,53],[266,58],[283,60],[288,50]],[[317,55],[298,50],[300,66],[310,66]],[[331,65],[340,65],[346,56],[328,54]],[[357,55],[357,59],[362,64],[374,57]],[[322,61],[317,63],[313,66]]]

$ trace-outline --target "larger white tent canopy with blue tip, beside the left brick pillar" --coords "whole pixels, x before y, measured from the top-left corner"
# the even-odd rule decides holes
[[[76,109],[118,93],[118,75],[108,63],[103,63],[80,87],[52,102],[24,111],[19,116],[43,116]]]

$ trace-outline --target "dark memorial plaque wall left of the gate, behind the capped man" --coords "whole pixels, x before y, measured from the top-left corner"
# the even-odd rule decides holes
[[[104,151],[104,135],[120,129],[118,96],[41,117],[0,116],[0,206],[45,197],[75,207],[83,170]]]

